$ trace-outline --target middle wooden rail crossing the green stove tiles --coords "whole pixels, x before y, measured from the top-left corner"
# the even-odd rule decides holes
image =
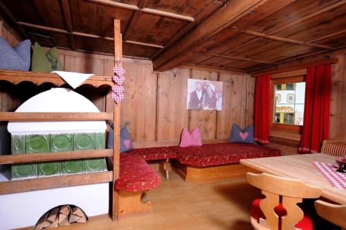
[[[113,156],[113,149],[67,151],[67,152],[56,152],[56,153],[33,153],[33,154],[20,154],[20,155],[0,155],[0,164],[51,162],[55,160],[75,160],[75,159],[111,157],[111,156]]]

